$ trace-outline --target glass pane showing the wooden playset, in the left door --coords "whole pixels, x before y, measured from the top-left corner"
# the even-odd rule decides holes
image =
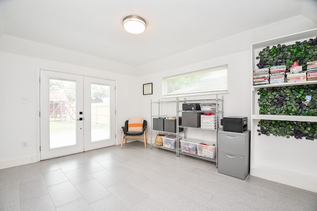
[[[50,79],[50,149],[76,144],[76,82]]]

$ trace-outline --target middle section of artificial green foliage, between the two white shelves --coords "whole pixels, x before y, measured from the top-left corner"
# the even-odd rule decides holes
[[[258,94],[260,114],[317,116],[317,84],[260,88]]]

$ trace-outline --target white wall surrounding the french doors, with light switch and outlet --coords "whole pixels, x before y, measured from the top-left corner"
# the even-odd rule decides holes
[[[39,159],[40,68],[115,80],[116,144],[121,142],[124,121],[140,115],[134,96],[137,84],[131,83],[136,81],[136,77],[0,52],[0,169]],[[22,104],[22,97],[27,98],[27,104]],[[130,109],[135,112],[131,113]],[[28,143],[28,147],[22,147],[23,141]]]

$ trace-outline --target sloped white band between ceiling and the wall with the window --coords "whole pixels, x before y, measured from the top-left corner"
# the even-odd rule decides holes
[[[156,73],[177,67],[183,67],[198,62],[203,62],[211,58],[217,58],[232,53],[250,50],[251,43],[261,42],[276,37],[314,29],[316,27],[317,23],[304,17],[303,15],[298,15],[253,30],[245,31],[229,37],[224,37],[215,42],[209,42],[193,49],[138,66],[136,72],[138,76],[142,76],[149,73]],[[197,39],[199,39],[199,35]]]

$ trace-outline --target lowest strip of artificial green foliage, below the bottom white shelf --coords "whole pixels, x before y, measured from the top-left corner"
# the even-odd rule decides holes
[[[294,136],[297,139],[305,137],[309,140],[317,139],[317,123],[261,120],[258,129],[259,135]]]

